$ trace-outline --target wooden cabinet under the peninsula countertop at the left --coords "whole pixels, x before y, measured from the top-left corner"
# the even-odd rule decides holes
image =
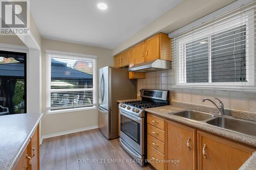
[[[39,170],[39,127],[37,126],[14,170]]]

